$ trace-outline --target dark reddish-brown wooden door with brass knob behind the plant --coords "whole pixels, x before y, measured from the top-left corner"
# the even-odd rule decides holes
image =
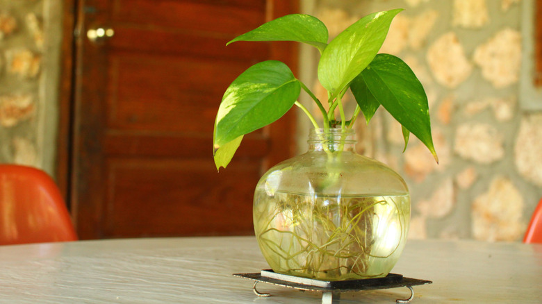
[[[291,155],[293,115],[246,136],[220,173],[213,122],[241,72],[268,59],[295,71],[297,51],[225,44],[294,2],[79,0],[70,199],[82,239],[253,233],[254,187]]]

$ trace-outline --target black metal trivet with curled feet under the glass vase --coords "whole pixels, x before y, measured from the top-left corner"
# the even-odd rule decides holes
[[[286,274],[275,273],[272,270],[262,270],[261,273],[233,273],[233,276],[254,280],[252,287],[257,296],[270,296],[258,292],[256,285],[258,282],[266,282],[274,285],[299,289],[302,291],[310,290],[313,292],[322,292],[322,304],[333,303],[334,298],[339,298],[341,292],[361,292],[362,290],[388,289],[397,287],[407,287],[411,295],[407,299],[397,299],[396,303],[410,303],[414,298],[413,286],[431,284],[432,281],[418,280],[415,278],[404,278],[404,276],[395,273],[389,273],[384,278],[370,278],[363,280],[342,280],[342,281],[322,281],[297,276],[288,276]]]

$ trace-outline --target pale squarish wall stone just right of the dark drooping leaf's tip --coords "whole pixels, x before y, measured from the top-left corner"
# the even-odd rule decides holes
[[[461,124],[455,133],[454,152],[480,164],[491,164],[504,157],[503,137],[494,126]]]

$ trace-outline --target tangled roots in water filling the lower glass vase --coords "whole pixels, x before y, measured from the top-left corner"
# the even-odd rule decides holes
[[[327,280],[373,278],[387,273],[382,270],[386,265],[373,264],[386,264],[380,260],[402,251],[410,212],[407,196],[275,194],[264,199],[255,204],[256,237],[276,271]],[[377,237],[387,239],[382,243]]]

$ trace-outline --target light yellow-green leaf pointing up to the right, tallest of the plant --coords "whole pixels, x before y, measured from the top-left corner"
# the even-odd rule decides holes
[[[331,96],[338,96],[375,58],[400,11],[402,8],[367,15],[329,43],[318,64],[318,79]]]

